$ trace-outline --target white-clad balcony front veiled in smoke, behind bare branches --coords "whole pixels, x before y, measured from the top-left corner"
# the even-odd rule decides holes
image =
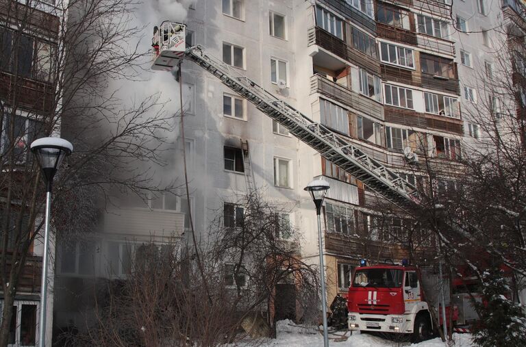
[[[160,209],[123,208],[104,215],[103,230],[126,235],[178,237],[184,231],[185,215]]]

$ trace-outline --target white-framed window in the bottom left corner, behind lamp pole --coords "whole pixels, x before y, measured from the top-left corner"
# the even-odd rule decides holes
[[[5,305],[0,300],[0,314]],[[8,346],[36,346],[37,313],[39,303],[29,300],[14,300],[9,324]]]

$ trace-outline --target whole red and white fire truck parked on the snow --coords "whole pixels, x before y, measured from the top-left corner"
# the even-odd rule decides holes
[[[349,329],[412,334],[414,341],[427,339],[433,331],[431,310],[442,324],[440,286],[444,288],[446,316],[452,314],[452,320],[457,322],[458,305],[450,303],[447,279],[413,266],[360,266],[351,277],[347,296]],[[462,323],[475,320],[475,311],[469,309],[471,304],[465,305],[469,294],[455,298],[462,300],[463,308],[468,308],[462,312]]]

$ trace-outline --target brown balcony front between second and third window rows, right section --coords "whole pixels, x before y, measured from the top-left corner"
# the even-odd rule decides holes
[[[398,68],[397,66],[386,64],[380,64],[380,68],[381,79],[384,81],[393,81],[421,88],[460,94],[460,84],[458,79],[428,75],[419,71]]]

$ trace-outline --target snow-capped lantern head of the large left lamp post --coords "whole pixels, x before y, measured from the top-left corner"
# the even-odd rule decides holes
[[[51,191],[51,182],[53,182],[53,177],[55,177],[60,163],[66,155],[73,152],[73,145],[63,138],[39,138],[31,144],[31,151],[42,169],[49,192]]]

